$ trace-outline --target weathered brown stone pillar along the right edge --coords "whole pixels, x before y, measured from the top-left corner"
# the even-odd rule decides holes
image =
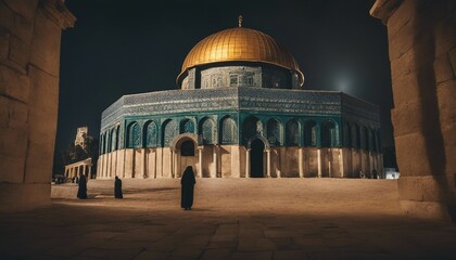
[[[388,26],[401,204],[456,220],[456,2],[377,0],[370,12]]]

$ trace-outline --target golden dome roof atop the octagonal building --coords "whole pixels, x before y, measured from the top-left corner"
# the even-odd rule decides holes
[[[261,62],[297,73],[300,86],[304,75],[294,57],[273,37],[244,27],[225,29],[211,35],[193,47],[182,64],[178,79],[190,67],[220,62]]]

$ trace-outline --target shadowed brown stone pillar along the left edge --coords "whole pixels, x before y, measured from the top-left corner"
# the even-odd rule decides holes
[[[0,211],[50,203],[62,0],[0,0]]]

